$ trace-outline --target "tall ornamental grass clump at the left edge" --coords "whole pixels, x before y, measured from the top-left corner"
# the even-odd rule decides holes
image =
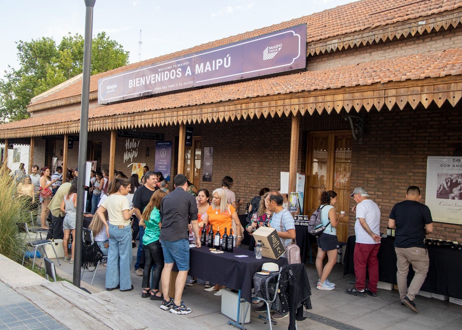
[[[0,167],[0,254],[20,263],[27,247],[16,223],[30,223],[30,213],[22,212],[27,201],[16,196],[17,185],[8,172]]]

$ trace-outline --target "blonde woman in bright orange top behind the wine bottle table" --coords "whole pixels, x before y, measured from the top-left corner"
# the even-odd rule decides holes
[[[236,246],[241,245],[241,223],[239,221],[239,218],[237,217],[237,212],[236,209],[228,204],[226,201],[226,192],[225,189],[219,188],[213,190],[212,194],[212,205],[209,206],[207,209],[207,214],[202,215],[202,221],[207,221],[213,225],[213,229],[216,230],[218,227],[220,227],[220,237],[223,237],[223,234],[225,233],[225,228],[228,229],[227,234],[229,234],[229,229],[232,228],[232,221],[234,220],[235,223],[235,230],[236,232],[233,232],[233,235],[235,235],[235,242]],[[217,291],[213,295],[215,296],[221,296],[221,289],[224,286],[215,284],[214,287],[209,287],[207,289],[204,289],[205,291]]]

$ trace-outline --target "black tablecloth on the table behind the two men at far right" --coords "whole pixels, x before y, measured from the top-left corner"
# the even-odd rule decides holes
[[[344,275],[354,274],[354,244],[356,236],[350,236],[346,244]],[[386,283],[396,282],[396,253],[394,238],[382,238],[377,254],[379,266],[379,280]],[[462,251],[438,246],[427,246],[430,265],[422,291],[442,294],[462,299]],[[409,268],[407,284],[414,276],[412,267]]]

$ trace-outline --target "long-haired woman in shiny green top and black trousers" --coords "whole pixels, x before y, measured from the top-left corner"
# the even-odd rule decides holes
[[[143,269],[143,292],[141,298],[150,297],[151,300],[163,300],[164,296],[159,293],[159,282],[162,269],[164,268],[164,252],[160,244],[160,202],[162,198],[167,196],[167,193],[162,190],[156,190],[151,196],[151,200],[146,205],[140,219],[140,226],[145,226],[143,235],[143,245],[145,253],[145,268]],[[146,219],[146,220],[145,220]],[[156,264],[152,283],[154,287],[151,289],[149,285],[149,277],[151,275],[152,264]]]

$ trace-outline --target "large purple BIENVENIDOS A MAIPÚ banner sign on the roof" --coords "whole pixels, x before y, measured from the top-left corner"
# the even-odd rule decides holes
[[[306,67],[306,24],[98,79],[98,104]]]

